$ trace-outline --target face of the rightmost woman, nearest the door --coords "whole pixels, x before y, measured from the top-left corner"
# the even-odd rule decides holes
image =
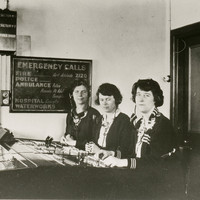
[[[155,107],[152,91],[144,91],[140,88],[137,88],[135,103],[140,112],[146,114],[151,111],[151,109]]]

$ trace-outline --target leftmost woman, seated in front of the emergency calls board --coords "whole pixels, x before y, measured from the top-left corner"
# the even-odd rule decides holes
[[[75,81],[71,87],[72,109],[66,118],[66,131],[60,142],[84,150],[92,139],[100,113],[89,106],[89,86],[86,82]]]

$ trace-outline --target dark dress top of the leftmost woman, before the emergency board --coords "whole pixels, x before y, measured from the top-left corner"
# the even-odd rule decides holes
[[[66,131],[65,136],[70,135],[76,140],[76,146],[79,149],[84,150],[85,144],[91,141],[93,136],[93,131],[96,129],[97,119],[100,116],[100,113],[89,107],[87,114],[84,116],[84,112],[76,114],[74,110],[68,113],[66,118]],[[74,118],[77,117],[79,123],[74,122]]]

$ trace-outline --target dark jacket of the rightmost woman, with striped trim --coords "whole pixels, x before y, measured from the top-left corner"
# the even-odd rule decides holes
[[[150,144],[143,142],[141,148],[141,158],[136,157],[135,146],[138,139],[138,129],[141,125],[141,120],[135,124],[135,131],[132,135],[133,149],[132,158],[136,158],[137,167],[141,164],[156,163],[163,158],[170,157],[174,149],[177,147],[177,137],[168,118],[156,109],[153,117],[155,124],[152,129],[148,129],[146,134],[150,136]],[[129,165],[132,165],[132,160],[129,160]]]

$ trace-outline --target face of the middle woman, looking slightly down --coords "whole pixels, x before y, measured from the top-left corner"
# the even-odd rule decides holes
[[[115,98],[112,96],[104,96],[99,93],[99,103],[106,113],[114,113],[116,110]]]

